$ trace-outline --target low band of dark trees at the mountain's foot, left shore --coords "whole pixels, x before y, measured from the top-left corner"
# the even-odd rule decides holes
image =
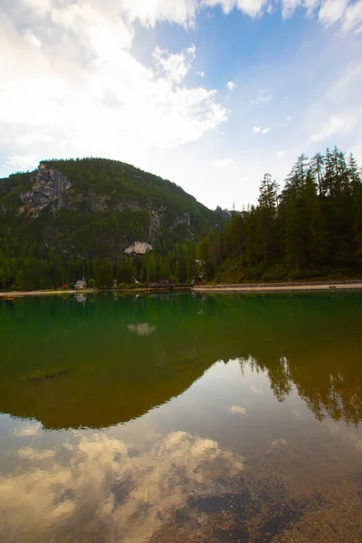
[[[3,240],[0,239],[0,242]],[[19,253],[5,256],[5,243],[0,245],[0,290],[37,291],[71,286],[82,277],[91,287],[110,289],[120,286],[148,284],[172,278],[176,282],[195,279],[195,243],[176,243],[167,253],[150,252],[144,256],[124,255],[113,262],[104,258],[80,258],[55,252],[34,243],[26,251],[19,243]],[[12,245],[14,252],[14,245]]]

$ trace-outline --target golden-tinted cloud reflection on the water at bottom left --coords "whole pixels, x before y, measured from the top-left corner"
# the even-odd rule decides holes
[[[223,494],[243,470],[240,457],[184,432],[158,437],[142,451],[101,433],[59,455],[26,447],[18,457],[32,469],[26,463],[25,471],[0,477],[2,536],[17,543],[61,541],[75,529],[77,540],[101,534],[146,542],[178,510],[197,530],[205,519],[192,501]]]

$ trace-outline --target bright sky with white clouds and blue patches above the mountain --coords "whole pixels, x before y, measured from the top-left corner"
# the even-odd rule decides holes
[[[241,209],[362,162],[362,0],[0,0],[0,176],[107,157]]]

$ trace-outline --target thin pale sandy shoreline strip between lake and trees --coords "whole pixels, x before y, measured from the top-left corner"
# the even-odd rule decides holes
[[[305,281],[292,283],[249,283],[203,285],[192,289],[194,292],[278,292],[278,291],[359,291],[362,290],[362,280],[355,281]],[[149,292],[148,289],[110,289],[99,291],[97,289],[84,289],[81,291],[7,291],[0,292],[0,300],[23,298],[24,296],[55,296],[70,294],[95,294],[99,292]]]

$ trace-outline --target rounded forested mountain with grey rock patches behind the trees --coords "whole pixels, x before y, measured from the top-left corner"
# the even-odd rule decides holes
[[[114,160],[49,160],[31,173],[0,179],[0,241],[7,257],[16,256],[19,244],[22,251],[43,244],[117,262],[125,253],[167,253],[174,243],[197,241],[224,223],[224,214],[180,186]]]

